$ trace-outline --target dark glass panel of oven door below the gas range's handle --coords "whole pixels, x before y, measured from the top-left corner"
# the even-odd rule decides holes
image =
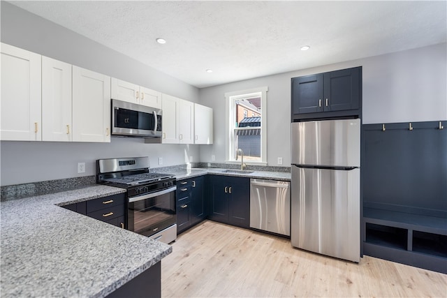
[[[129,202],[129,230],[151,236],[176,221],[175,191],[154,198]]]

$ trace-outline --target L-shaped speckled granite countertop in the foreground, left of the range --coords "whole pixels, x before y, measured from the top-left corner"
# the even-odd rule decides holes
[[[59,205],[124,193],[87,188],[1,202],[3,297],[105,297],[172,247]]]

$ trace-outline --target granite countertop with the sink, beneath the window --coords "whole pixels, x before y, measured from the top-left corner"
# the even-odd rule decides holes
[[[273,179],[281,181],[291,181],[290,172],[268,172],[268,171],[257,171],[257,170],[244,170],[244,171],[235,170],[235,172],[233,171],[234,170],[230,169],[215,169],[215,168],[207,168],[207,169],[182,168],[172,172],[168,172],[167,174],[175,175],[175,178],[177,178],[177,180],[198,177],[204,174],[216,174],[216,175],[233,176],[233,177],[247,177],[253,179]]]

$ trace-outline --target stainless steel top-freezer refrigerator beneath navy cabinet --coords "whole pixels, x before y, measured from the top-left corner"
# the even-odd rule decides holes
[[[292,123],[291,242],[360,261],[360,119]]]

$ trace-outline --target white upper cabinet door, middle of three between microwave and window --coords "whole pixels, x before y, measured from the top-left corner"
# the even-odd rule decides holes
[[[179,143],[194,144],[194,103],[180,99],[178,107]]]

